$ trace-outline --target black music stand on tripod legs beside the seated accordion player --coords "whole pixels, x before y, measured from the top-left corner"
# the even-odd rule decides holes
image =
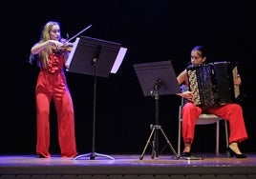
[[[179,159],[180,156],[177,154],[172,144],[170,143],[168,137],[161,129],[159,122],[159,100],[160,95],[165,94],[176,94],[181,92],[179,84],[176,79],[175,71],[171,61],[161,61],[161,62],[152,62],[144,64],[135,64],[134,69],[136,70],[137,76],[139,78],[139,84],[143,90],[144,96],[153,96],[155,98],[155,117],[156,124],[150,125],[152,130],[149,138],[147,140],[146,146],[143,149],[142,154],[139,156],[139,159],[142,160],[144,153],[148,147],[148,144],[152,142],[152,156],[153,159],[155,156],[159,156],[159,136],[157,131],[160,130],[161,134],[165,138],[168,146],[175,154],[176,158]],[[151,141],[151,138],[154,134],[154,139]]]

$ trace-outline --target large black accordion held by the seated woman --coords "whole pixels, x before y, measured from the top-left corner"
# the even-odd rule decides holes
[[[230,62],[214,62],[200,66],[188,66],[189,90],[197,106],[219,106],[234,102],[240,94],[234,85],[238,68]]]

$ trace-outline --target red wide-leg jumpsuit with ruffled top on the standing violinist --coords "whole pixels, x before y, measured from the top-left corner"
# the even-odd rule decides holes
[[[50,104],[53,100],[57,114],[58,142],[61,157],[77,155],[75,145],[75,114],[73,100],[63,71],[64,55],[51,53],[47,69],[41,68],[35,89],[36,153],[49,158]]]

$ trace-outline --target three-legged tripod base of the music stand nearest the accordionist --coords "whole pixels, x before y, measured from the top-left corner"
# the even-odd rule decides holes
[[[170,143],[170,141],[169,141],[168,137],[166,136],[166,134],[164,133],[163,129],[161,129],[161,126],[160,126],[160,125],[154,125],[154,126],[153,126],[153,125],[150,125],[150,129],[152,129],[152,131],[151,131],[151,133],[150,133],[150,135],[149,135],[149,138],[148,138],[148,140],[147,140],[147,142],[146,142],[146,145],[145,145],[145,147],[144,147],[144,149],[143,149],[142,154],[139,156],[139,160],[142,160],[142,159],[143,159],[144,153],[145,153],[145,151],[146,151],[146,149],[147,149],[147,147],[148,147],[148,145],[149,145],[149,143],[150,143],[150,141],[151,141],[151,138],[152,138],[153,134],[156,134],[155,132],[157,132],[157,130],[160,130],[160,132],[161,132],[162,136],[164,137],[164,139],[166,140],[168,146],[169,146],[170,149],[173,151],[173,153],[175,154],[176,158],[179,159],[180,156],[177,154],[177,152],[176,152],[175,149],[173,148],[172,144]],[[156,155],[157,155],[157,152],[156,152],[155,144],[154,144],[154,140],[153,140],[153,141],[152,141],[152,155],[151,155],[151,158],[154,159],[154,157],[155,157]]]

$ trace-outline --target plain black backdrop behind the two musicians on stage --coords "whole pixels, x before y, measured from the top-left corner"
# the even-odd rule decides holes
[[[39,1],[7,2],[2,15],[0,153],[35,152],[34,87],[38,69],[28,64],[32,45],[49,20],[61,23],[62,36],[82,33],[121,43],[127,48],[116,74],[98,77],[96,85],[96,151],[140,153],[155,123],[155,100],[144,96],[134,64],[171,60],[176,73],[190,60],[190,50],[206,46],[211,61],[239,62],[245,93],[242,106],[249,135],[241,149],[255,151],[255,6],[224,1]],[[92,151],[94,76],[67,73],[75,105],[79,153]],[[176,95],[160,96],[160,125],[177,149]],[[53,108],[53,107],[52,107]],[[224,126],[221,151],[224,151]],[[56,116],[51,114],[51,153],[59,153]],[[214,152],[214,126],[197,127],[195,151]],[[161,140],[161,138],[160,138]],[[165,141],[160,141],[160,147]],[[163,147],[164,148],[164,147]],[[171,150],[166,148],[167,152]]]

